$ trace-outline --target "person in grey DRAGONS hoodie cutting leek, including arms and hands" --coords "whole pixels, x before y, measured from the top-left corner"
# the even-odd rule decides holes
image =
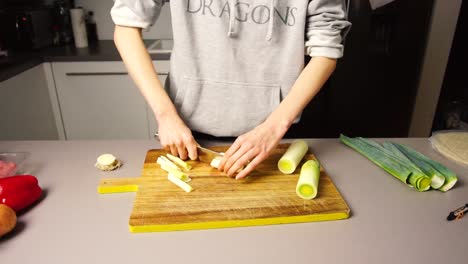
[[[163,147],[196,159],[192,130],[237,137],[219,169],[233,176],[245,166],[241,179],[298,122],[343,56],[345,0],[173,0],[165,88],[141,35],[163,3],[116,0],[117,49],[155,113]]]

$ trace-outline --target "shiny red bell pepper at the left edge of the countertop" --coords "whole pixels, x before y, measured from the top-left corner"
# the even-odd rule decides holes
[[[16,212],[30,206],[42,194],[37,178],[32,175],[18,175],[0,179],[0,203]]]

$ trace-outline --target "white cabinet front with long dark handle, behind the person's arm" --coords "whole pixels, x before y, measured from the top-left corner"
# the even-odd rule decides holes
[[[154,63],[169,70],[169,61]],[[56,62],[52,70],[66,139],[152,138],[153,115],[123,62]]]

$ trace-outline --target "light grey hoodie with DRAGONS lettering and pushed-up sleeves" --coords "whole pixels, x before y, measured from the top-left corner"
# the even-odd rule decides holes
[[[163,0],[116,0],[115,24],[156,21]],[[263,122],[304,68],[343,56],[345,0],[172,0],[166,89],[193,130],[238,136]],[[296,122],[299,120],[296,119]]]

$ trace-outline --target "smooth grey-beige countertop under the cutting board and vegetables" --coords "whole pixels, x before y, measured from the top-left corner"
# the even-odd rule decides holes
[[[454,170],[456,187],[419,193],[338,139],[311,139],[351,208],[349,219],[144,234],[128,231],[135,194],[99,195],[96,188],[102,177],[138,176],[157,142],[0,141],[0,151],[31,153],[27,166],[46,194],[0,239],[0,263],[466,263],[468,217],[446,217],[468,202],[468,168],[440,156],[427,139],[392,140]],[[123,167],[94,168],[107,152]]]

